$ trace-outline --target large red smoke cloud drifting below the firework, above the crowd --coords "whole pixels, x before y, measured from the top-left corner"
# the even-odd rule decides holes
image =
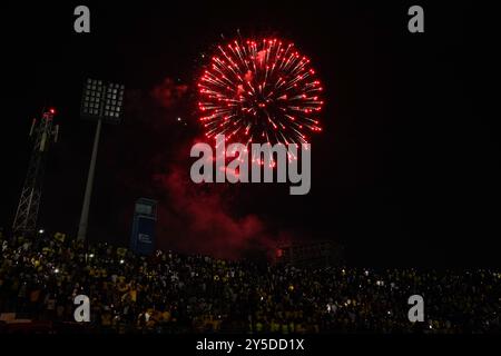
[[[224,258],[239,258],[248,249],[272,248],[273,239],[256,215],[232,214],[236,202],[225,195],[225,186],[194,184],[186,168],[179,166],[155,175],[154,181],[167,192],[158,216],[160,247],[176,246],[183,251]]]

